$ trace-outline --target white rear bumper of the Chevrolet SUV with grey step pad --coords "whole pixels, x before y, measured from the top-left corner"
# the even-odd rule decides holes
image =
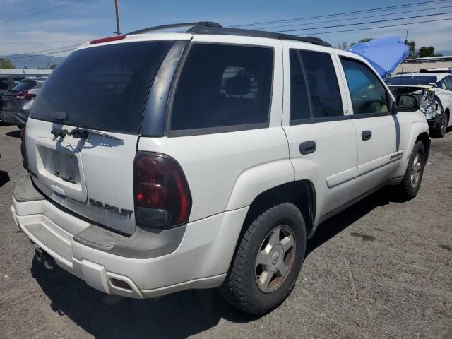
[[[160,253],[148,251],[144,252],[148,258],[143,258],[143,249],[138,248],[143,242],[129,246],[127,251],[111,251],[107,247],[114,246],[105,239],[116,242],[114,234],[105,229],[90,229],[92,225],[89,222],[59,208],[36,192],[23,189],[23,186],[16,187],[11,211],[17,227],[52,256],[61,268],[85,280],[88,285],[108,294],[133,298],[221,285],[248,210],[241,208],[191,222],[186,225],[179,244],[169,253],[166,253],[168,250]],[[107,235],[102,238],[105,242],[99,244],[96,241],[99,233],[96,232],[102,230]],[[136,232],[127,239],[141,237],[157,239],[159,234]],[[100,247],[104,245],[106,248]],[[155,242],[156,249],[160,249],[160,245]],[[117,284],[117,280],[123,284]],[[129,287],[121,287],[124,283]]]

